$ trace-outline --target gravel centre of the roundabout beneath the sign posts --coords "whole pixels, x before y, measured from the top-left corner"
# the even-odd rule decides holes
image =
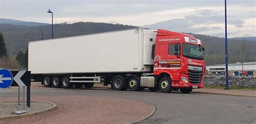
[[[30,102],[30,108],[27,107],[26,113],[24,114],[40,112],[51,107],[53,107],[53,105],[50,103]],[[0,118],[16,116],[17,114],[15,114],[15,112],[23,110],[22,108],[22,102],[21,105],[18,105],[17,102],[0,102]]]

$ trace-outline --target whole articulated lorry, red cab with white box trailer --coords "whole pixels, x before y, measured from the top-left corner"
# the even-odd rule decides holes
[[[28,67],[45,87],[190,93],[203,88],[201,40],[167,30],[130,29],[29,42]]]

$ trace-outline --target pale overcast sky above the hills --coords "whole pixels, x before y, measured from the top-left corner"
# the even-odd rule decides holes
[[[224,0],[0,0],[1,18],[135,26],[170,20],[166,29],[224,37]],[[228,37],[256,36],[255,0],[227,0]]]

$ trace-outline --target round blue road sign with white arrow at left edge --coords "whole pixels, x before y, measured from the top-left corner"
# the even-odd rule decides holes
[[[12,84],[12,74],[9,70],[0,70],[0,88],[8,88]]]

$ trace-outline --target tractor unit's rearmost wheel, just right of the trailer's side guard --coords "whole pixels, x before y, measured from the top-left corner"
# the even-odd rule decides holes
[[[112,86],[116,91],[122,91],[125,88],[125,81],[121,75],[116,75],[112,79]]]

